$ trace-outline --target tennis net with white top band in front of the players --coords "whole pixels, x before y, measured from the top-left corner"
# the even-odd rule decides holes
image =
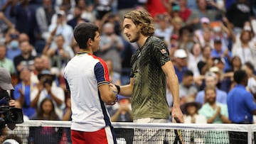
[[[70,121],[25,121],[1,139],[22,143],[71,143]],[[253,124],[112,123],[118,144],[129,143],[255,143]]]

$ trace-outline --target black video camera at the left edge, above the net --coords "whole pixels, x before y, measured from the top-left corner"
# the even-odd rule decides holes
[[[9,107],[10,96],[4,91],[0,93],[0,128],[4,128],[6,123],[23,123],[22,109]]]

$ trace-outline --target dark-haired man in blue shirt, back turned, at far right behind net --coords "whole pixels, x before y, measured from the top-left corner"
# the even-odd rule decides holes
[[[232,123],[252,123],[252,115],[256,115],[256,104],[252,94],[245,89],[248,76],[244,70],[238,70],[234,79],[237,85],[228,93],[228,117]],[[247,143],[247,133],[230,132],[230,143]]]

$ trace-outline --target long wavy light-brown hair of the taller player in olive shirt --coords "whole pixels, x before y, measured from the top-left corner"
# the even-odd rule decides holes
[[[124,18],[129,18],[135,26],[142,25],[142,35],[154,35],[154,22],[150,14],[144,9],[130,11],[124,15]]]

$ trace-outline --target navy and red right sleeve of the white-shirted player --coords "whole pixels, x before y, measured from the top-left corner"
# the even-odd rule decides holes
[[[97,86],[100,87],[102,84],[110,84],[110,77],[106,63],[101,60],[95,65],[95,77],[97,79]]]

